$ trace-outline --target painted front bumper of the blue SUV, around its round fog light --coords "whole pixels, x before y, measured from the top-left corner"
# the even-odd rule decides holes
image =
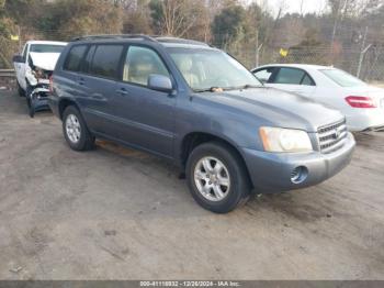
[[[354,139],[348,133],[346,144],[330,154],[282,154],[248,148],[242,148],[242,154],[255,189],[281,192],[314,186],[335,176],[351,162],[354,146]],[[305,167],[307,174],[303,181],[294,184],[291,178],[297,167]]]

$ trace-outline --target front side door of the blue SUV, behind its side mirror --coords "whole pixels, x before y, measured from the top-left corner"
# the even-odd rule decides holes
[[[131,45],[114,99],[120,137],[131,145],[171,158],[176,96],[149,89],[150,75],[172,78],[155,49]]]

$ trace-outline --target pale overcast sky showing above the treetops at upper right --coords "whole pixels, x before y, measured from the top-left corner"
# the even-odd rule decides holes
[[[327,0],[256,0],[258,3],[267,3],[273,12],[279,11],[281,4],[284,5],[285,12],[301,12],[303,2],[303,13],[319,13],[327,5]]]

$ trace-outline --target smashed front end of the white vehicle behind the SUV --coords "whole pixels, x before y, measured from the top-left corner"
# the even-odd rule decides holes
[[[37,111],[49,109],[49,82],[58,55],[56,53],[31,53],[29,66],[25,70],[25,78],[27,82],[26,101],[31,118],[33,118]]]

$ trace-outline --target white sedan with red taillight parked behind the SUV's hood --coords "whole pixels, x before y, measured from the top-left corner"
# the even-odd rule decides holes
[[[341,111],[350,131],[384,129],[384,89],[334,67],[274,64],[252,70],[266,86],[302,95]]]

